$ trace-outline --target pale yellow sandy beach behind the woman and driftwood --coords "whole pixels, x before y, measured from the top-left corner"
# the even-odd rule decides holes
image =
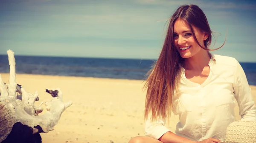
[[[9,73],[1,76],[8,83]],[[143,81],[27,74],[17,74],[16,79],[27,92],[38,91],[36,104],[51,100],[46,88],[60,88],[64,102],[73,101],[55,129],[41,133],[43,143],[128,143],[131,137],[144,135]],[[256,86],[250,87],[256,101]],[[238,112],[236,107],[236,120]],[[174,132],[178,118],[172,117],[166,126]]]

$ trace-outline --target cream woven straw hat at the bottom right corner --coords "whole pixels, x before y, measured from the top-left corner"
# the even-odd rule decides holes
[[[256,143],[256,121],[235,121],[227,126],[226,140],[219,143]]]

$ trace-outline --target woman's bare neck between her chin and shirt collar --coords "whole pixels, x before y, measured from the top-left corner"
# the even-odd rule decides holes
[[[209,56],[207,50],[201,50],[196,55],[185,59],[186,70],[203,70],[204,67],[208,66],[209,60],[211,57]]]

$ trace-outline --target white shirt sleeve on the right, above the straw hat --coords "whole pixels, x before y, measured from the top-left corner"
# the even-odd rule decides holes
[[[256,120],[256,107],[245,73],[238,61],[235,67],[233,85],[236,101],[239,106],[241,120]]]

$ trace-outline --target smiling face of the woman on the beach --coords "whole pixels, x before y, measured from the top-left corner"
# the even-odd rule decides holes
[[[198,28],[195,28],[194,26],[192,27],[198,42],[204,46],[204,40],[208,38],[208,35],[201,32]],[[193,38],[189,25],[187,25],[183,20],[178,19],[174,23],[173,38],[175,40],[175,47],[182,58],[190,58],[202,53],[200,51],[204,50],[197,44]]]

